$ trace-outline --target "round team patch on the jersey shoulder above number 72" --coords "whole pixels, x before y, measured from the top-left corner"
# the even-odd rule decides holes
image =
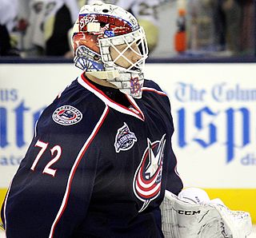
[[[56,109],[52,116],[60,125],[74,125],[82,120],[82,113],[71,105],[62,105]]]

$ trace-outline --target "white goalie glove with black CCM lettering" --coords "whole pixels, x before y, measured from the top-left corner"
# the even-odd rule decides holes
[[[248,212],[230,211],[219,199],[196,204],[166,191],[160,208],[162,232],[168,238],[243,238],[252,228]]]

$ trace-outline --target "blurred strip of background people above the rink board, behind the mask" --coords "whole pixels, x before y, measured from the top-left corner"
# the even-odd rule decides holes
[[[79,9],[90,2],[0,0],[0,56],[73,58],[70,32]],[[255,54],[253,0],[102,2],[122,6],[138,18],[151,56]]]

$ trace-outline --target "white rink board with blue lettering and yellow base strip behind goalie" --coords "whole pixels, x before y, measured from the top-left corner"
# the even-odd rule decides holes
[[[42,109],[81,73],[70,64],[0,65],[0,196],[18,169]],[[149,64],[170,97],[173,147],[185,187],[206,188],[232,209],[256,200],[256,64]]]

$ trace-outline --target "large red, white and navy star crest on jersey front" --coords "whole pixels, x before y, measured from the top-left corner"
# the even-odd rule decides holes
[[[142,161],[134,174],[134,194],[143,201],[142,212],[161,192],[162,163],[166,146],[166,134],[161,141],[151,142],[147,139],[147,148],[142,156]]]

